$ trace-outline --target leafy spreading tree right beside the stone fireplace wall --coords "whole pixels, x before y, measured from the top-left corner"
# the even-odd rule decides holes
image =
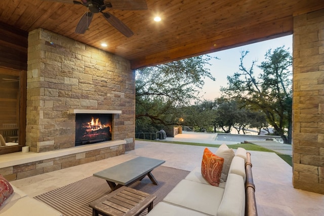
[[[204,78],[215,80],[205,68],[210,59],[197,56],[137,70],[136,131],[150,132],[156,125],[179,123],[181,108],[197,99]]]

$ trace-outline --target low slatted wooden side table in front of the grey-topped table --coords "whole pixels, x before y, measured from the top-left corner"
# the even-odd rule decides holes
[[[89,206],[93,216],[99,213],[103,216],[139,215],[146,208],[148,212],[153,208],[155,198],[154,195],[123,186]]]

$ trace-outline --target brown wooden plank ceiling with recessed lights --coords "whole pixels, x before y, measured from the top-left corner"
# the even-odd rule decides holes
[[[69,2],[68,0],[66,2]],[[323,0],[146,0],[147,10],[106,9],[134,32],[125,37],[99,14],[74,33],[86,7],[43,0],[0,1],[0,20],[24,31],[44,28],[129,59],[132,68],[220,51],[293,33],[293,16]],[[160,22],[154,22],[158,15]],[[101,47],[106,42],[107,47]]]

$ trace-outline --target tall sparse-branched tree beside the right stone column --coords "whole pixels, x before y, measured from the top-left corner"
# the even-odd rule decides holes
[[[292,141],[292,56],[285,47],[270,49],[265,61],[258,67],[263,70],[254,75],[256,61],[250,68],[244,66],[248,51],[241,52],[239,71],[228,76],[228,87],[221,92],[229,98],[243,101],[254,110],[262,110],[284,143]],[[287,130],[286,130],[287,129]],[[286,132],[287,131],[287,132]]]

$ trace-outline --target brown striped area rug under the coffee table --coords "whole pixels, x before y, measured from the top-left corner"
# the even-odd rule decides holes
[[[154,194],[156,196],[154,200],[155,206],[188,173],[189,171],[182,169],[158,166],[152,171],[158,185],[153,185],[150,179],[145,177],[142,181],[137,181],[129,187]],[[92,208],[89,207],[89,203],[96,201],[108,193],[110,193],[110,187],[107,182],[91,176],[34,198],[52,206],[64,216],[90,216],[92,215]],[[147,210],[141,215],[146,215],[146,213]]]

